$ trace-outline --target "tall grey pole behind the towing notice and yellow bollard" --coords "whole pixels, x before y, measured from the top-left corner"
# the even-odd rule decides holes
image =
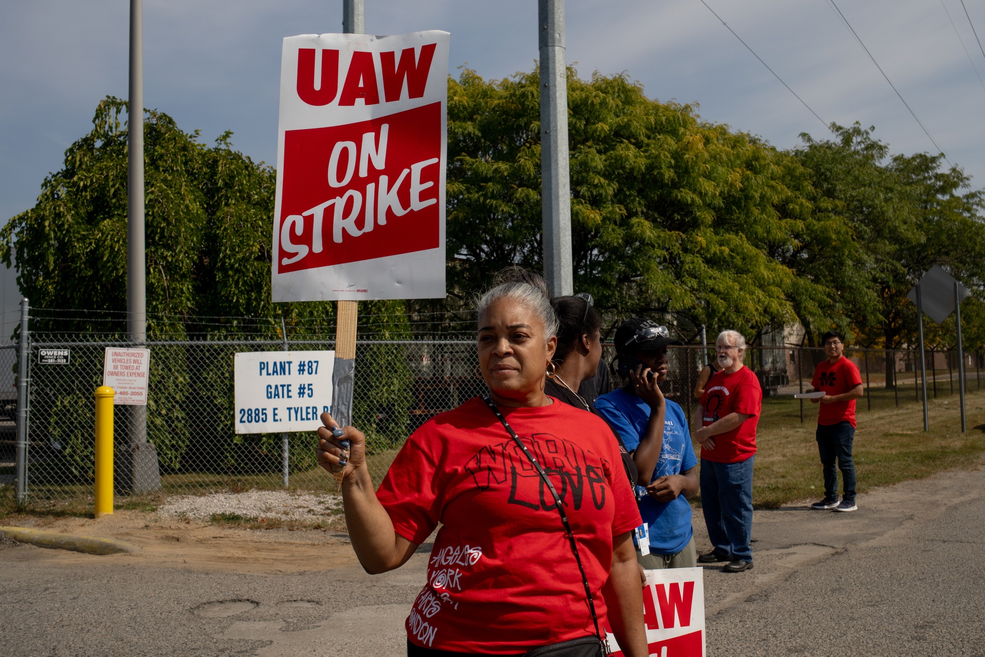
[[[130,0],[130,111],[127,128],[127,333],[130,343],[147,343],[147,256],[144,252],[144,8]],[[130,475],[127,488],[146,493],[161,488],[158,454],[147,441],[147,407],[130,406]]]

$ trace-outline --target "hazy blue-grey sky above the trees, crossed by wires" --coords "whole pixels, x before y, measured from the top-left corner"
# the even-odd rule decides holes
[[[834,0],[953,163],[985,185],[985,56],[959,0]],[[827,121],[875,125],[894,153],[934,152],[830,0],[706,0]],[[985,0],[964,0],[985,38]],[[537,58],[534,0],[365,0],[366,30],[445,30],[452,71],[486,78]],[[145,105],[275,162],[281,39],[341,32],[341,0],[145,0]],[[0,221],[31,207],[99,99],[127,96],[126,0],[0,0]],[[567,58],[625,72],[651,98],[780,148],[826,130],[700,0],[567,2]],[[949,20],[951,14],[954,26]],[[955,33],[956,28],[956,33]],[[969,54],[965,53],[964,48]],[[969,55],[970,60],[969,61]],[[977,73],[977,75],[976,75]]]

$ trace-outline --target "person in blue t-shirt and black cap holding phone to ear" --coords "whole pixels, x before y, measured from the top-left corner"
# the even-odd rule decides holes
[[[674,344],[681,343],[656,322],[635,317],[624,322],[616,331],[616,347],[628,382],[595,401],[599,414],[623,436],[639,472],[636,499],[649,540],[637,541],[636,558],[644,568],[697,565],[687,499],[698,491],[697,459],[684,410],[658,385],[667,378],[667,347]]]

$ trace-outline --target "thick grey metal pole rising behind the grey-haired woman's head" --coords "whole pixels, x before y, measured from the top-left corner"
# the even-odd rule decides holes
[[[541,204],[544,278],[557,296],[574,294],[571,183],[567,147],[564,0],[539,0],[541,48]]]

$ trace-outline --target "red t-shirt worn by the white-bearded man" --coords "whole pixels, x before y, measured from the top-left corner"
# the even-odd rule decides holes
[[[714,449],[701,447],[701,458],[716,463],[739,463],[755,454],[755,426],[762,411],[762,388],[752,369],[743,365],[733,374],[724,369],[712,374],[704,386],[700,404],[704,409],[703,427],[731,413],[750,416],[739,427],[714,436]]]

